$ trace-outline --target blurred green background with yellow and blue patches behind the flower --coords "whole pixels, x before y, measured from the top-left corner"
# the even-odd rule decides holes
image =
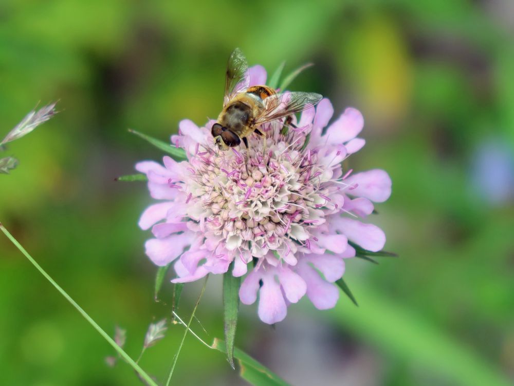
[[[145,184],[114,181],[162,154],[126,129],[166,140],[182,118],[215,117],[236,46],[268,73],[314,62],[291,89],[363,112],[351,166],[390,173],[373,221],[400,257],[348,261],[358,308],[302,301],[273,329],[243,306],[236,345],[297,385],[511,384],[513,25],[510,0],[2,0],[0,137],[38,101],[61,112],[5,152],[20,166],[0,175],[0,221],[108,332],[126,328],[137,358],[171,286],[168,304],[153,301]],[[140,384],[0,236],[0,384]],[[185,287],[180,314],[198,292]],[[221,307],[211,277],[192,327],[207,341],[223,335]],[[161,382],[182,332],[141,360]],[[192,337],[177,366],[174,384],[245,383]]]

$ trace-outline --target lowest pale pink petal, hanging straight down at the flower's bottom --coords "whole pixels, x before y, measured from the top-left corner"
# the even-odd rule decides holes
[[[259,318],[268,324],[283,321],[287,314],[287,306],[280,285],[270,274],[264,275],[262,281],[263,285],[259,296]]]

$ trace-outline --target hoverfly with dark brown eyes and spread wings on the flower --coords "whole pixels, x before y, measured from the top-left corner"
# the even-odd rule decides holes
[[[265,136],[260,127],[315,106],[322,96],[316,93],[277,92],[265,85],[249,86],[248,63],[239,48],[234,49],[227,65],[223,110],[211,133],[219,150],[241,144],[248,149],[252,133]]]

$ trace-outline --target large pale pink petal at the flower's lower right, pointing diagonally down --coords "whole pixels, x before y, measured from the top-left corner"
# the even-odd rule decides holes
[[[298,273],[307,283],[307,296],[314,306],[320,310],[333,308],[339,299],[339,289],[325,282],[312,267],[307,264],[298,265]]]

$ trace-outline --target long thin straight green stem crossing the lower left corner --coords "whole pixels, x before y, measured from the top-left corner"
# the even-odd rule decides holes
[[[54,282],[50,275],[46,273],[46,271],[43,268],[41,268],[41,266],[32,258],[32,256],[28,254],[25,248],[23,248],[22,245],[7,231],[7,229],[5,229],[2,223],[0,223],[0,230],[2,230],[2,232],[4,232],[4,234],[7,236],[9,240],[11,240],[11,242],[16,246],[16,248],[19,249],[20,252],[22,252],[27,259],[29,259],[32,265],[36,269],[38,269],[38,271],[41,272],[43,276],[46,277],[46,279],[52,284],[52,286],[54,286],[59,292],[61,292],[61,295],[63,295],[66,298],[66,300],[70,302],[71,305],[74,306],[77,309],[77,311],[81,313],[84,319],[87,320],[89,324],[93,326],[111,346],[114,347],[118,354],[134,368],[134,370],[141,376],[141,378],[143,378],[150,386],[158,386],[157,383],[155,383],[154,380],[148,374],[146,374],[144,370],[141,369],[141,367],[139,367],[139,365],[136,362],[134,362],[134,360],[130,356],[128,356],[128,354],[125,353],[123,349],[120,346],[118,346],[116,342],[111,337],[109,337],[107,333],[93,319],[91,319],[91,317],[86,313],[86,311],[84,311],[73,299],[71,299],[71,296],[68,295],[66,291],[64,291],[56,282]]]

